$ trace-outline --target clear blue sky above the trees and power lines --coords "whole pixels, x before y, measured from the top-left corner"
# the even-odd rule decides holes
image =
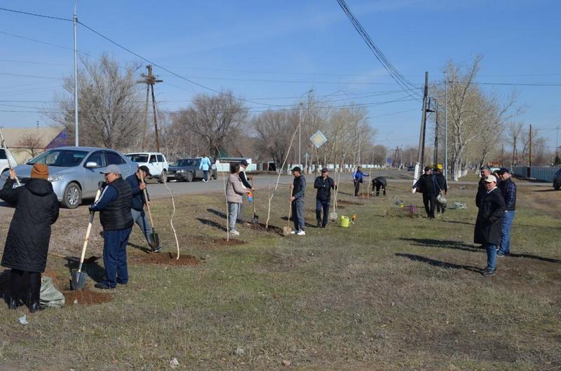
[[[478,78],[487,83],[561,85],[561,2],[346,0],[374,43],[396,68],[421,85],[424,71],[442,80],[448,59],[469,64],[483,55]],[[74,1],[4,0],[3,8],[72,18]],[[79,20],[166,68],[215,90],[261,104],[292,104],[313,88],[333,105],[386,102],[407,94],[388,78],[336,0],[315,1],[81,1]],[[41,111],[62,92],[73,71],[72,23],[0,11],[0,125],[46,125]],[[83,27],[79,50],[138,60]],[[208,92],[165,71],[156,94],[161,109],[185,106]],[[36,77],[24,77],[36,76]],[[37,77],[40,76],[40,77]],[[518,92],[518,121],[543,128],[555,146],[561,125],[561,86],[485,85],[506,97]],[[379,94],[378,94],[379,93]],[[378,95],[377,95],[378,94]],[[366,97],[365,97],[366,96]],[[23,102],[37,101],[37,102]],[[369,108],[377,142],[407,146],[418,140],[421,104],[395,102]],[[6,112],[26,111],[26,112]],[[397,113],[401,112],[401,113]]]

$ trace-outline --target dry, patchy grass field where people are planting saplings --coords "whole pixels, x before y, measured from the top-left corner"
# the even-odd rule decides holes
[[[479,273],[485,251],[472,244],[475,186],[448,194],[468,209],[429,221],[395,204],[394,196],[424,214],[408,183],[390,180],[388,196],[375,199],[353,199],[346,184],[337,212],[358,216],[351,228],[330,223],[282,237],[241,226],[245,243],[235,246],[222,241],[223,195],[177,197],[181,253],[196,260],[154,264],[136,228],[128,285],[98,300],[88,281],[96,300],[109,301],[27,314],[25,326],[18,317],[27,309],[0,306],[0,368],[155,370],[177,358],[177,370],[559,370],[561,193],[518,189],[512,255],[489,278]],[[256,193],[262,223],[267,193]],[[314,197],[308,189],[311,225]],[[279,188],[274,227],[286,223],[287,198]],[[165,251],[175,254],[170,201],[156,200],[154,211]],[[78,255],[87,218],[84,207],[62,210],[51,251]],[[4,236],[9,221],[2,216]],[[99,254],[97,233],[92,245]],[[99,279],[97,263],[88,272]],[[67,288],[65,260],[51,255],[48,269]]]

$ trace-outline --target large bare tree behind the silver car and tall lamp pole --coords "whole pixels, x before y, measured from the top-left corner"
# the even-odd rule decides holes
[[[102,55],[100,59],[83,59],[78,72],[79,136],[82,146],[122,149],[137,144],[138,125],[144,122],[140,88],[135,73],[140,64],[120,66]],[[47,112],[55,123],[63,125],[74,140],[74,78],[64,80],[69,93],[58,97],[57,110]]]

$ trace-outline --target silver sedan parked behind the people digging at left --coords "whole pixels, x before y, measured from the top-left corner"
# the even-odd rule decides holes
[[[123,178],[133,174],[137,165],[121,153],[95,147],[60,147],[54,148],[27,164],[15,168],[22,183],[29,181],[31,169],[35,163],[49,167],[48,180],[63,207],[75,209],[83,200],[93,199],[97,192],[97,184],[104,181],[101,172],[109,165],[117,165]],[[8,171],[0,176],[0,187],[4,186]]]

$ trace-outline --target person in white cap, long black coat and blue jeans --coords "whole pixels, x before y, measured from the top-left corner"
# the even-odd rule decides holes
[[[496,246],[501,242],[506,207],[501,190],[496,187],[496,178],[489,175],[483,183],[486,191],[480,200],[473,242],[482,244],[487,250],[487,267],[482,272],[483,276],[493,276],[496,271]]]

